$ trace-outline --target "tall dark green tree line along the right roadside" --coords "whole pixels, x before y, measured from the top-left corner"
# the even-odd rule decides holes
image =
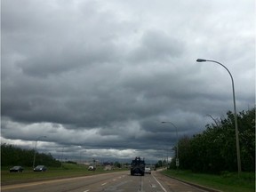
[[[231,111],[223,119],[214,119],[205,131],[178,142],[180,169],[194,172],[236,172],[235,118]],[[241,167],[244,172],[255,171],[255,108],[237,114]],[[176,155],[170,167],[176,168]]]

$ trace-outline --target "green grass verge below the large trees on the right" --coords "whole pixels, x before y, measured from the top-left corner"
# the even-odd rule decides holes
[[[201,186],[232,192],[254,192],[255,173],[242,172],[238,177],[237,172],[224,172],[220,175],[195,173],[190,171],[163,171],[167,176],[186,180]]]

